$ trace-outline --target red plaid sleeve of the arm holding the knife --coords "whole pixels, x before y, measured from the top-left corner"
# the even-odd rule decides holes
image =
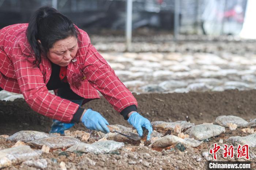
[[[24,44],[23,44],[24,45]],[[49,93],[43,73],[33,65],[34,57],[26,57],[18,43],[13,47],[11,60],[19,88],[25,101],[36,112],[69,123],[79,105]]]

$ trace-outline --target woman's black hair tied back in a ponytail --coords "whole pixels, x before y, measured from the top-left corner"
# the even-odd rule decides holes
[[[27,39],[35,53],[34,64],[39,66],[41,53],[45,55],[57,40],[68,36],[78,37],[74,24],[67,17],[50,7],[39,8],[30,19]],[[41,44],[38,42],[40,40]]]

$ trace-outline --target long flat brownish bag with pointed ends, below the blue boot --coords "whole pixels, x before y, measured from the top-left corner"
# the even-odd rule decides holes
[[[37,139],[28,143],[35,147],[42,147],[43,145],[45,145],[50,147],[51,149],[59,149],[68,148],[80,142],[81,141],[79,139],[73,138],[71,136],[57,136]]]

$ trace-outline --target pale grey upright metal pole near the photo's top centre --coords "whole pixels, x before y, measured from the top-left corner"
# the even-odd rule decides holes
[[[131,50],[132,44],[132,0],[127,0],[126,5],[126,46],[127,51]]]

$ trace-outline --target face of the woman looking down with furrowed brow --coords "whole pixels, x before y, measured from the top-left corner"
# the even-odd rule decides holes
[[[56,41],[49,49],[47,57],[51,62],[59,66],[67,66],[75,57],[78,50],[78,41],[75,36]]]

